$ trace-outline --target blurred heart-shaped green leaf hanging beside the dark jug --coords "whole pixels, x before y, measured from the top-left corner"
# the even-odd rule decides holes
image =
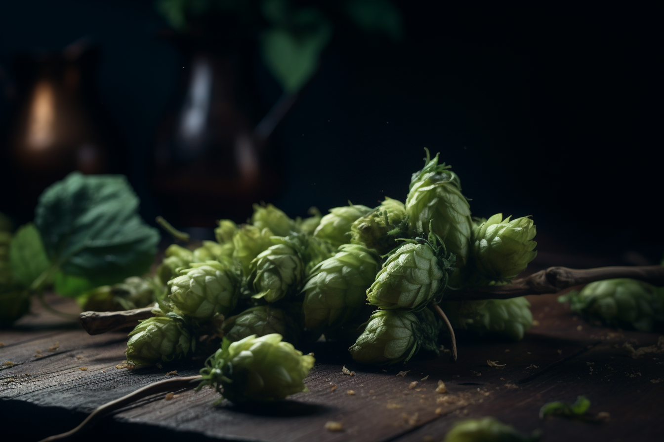
[[[330,23],[313,9],[301,9],[288,25],[266,30],[261,39],[263,61],[284,91],[295,93],[309,81],[331,35]]]

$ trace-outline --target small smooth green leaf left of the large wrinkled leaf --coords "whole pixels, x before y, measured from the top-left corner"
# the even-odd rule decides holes
[[[41,235],[33,223],[19,228],[9,246],[9,262],[14,280],[29,287],[49,267]]]

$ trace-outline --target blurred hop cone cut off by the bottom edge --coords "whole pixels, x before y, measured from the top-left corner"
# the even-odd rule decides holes
[[[465,419],[454,424],[443,442],[530,442],[537,437],[525,437],[511,425],[495,417]]]

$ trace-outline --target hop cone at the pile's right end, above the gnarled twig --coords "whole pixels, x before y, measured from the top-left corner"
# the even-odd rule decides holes
[[[477,271],[492,281],[508,282],[525,269],[537,252],[535,224],[529,217],[503,219],[497,213],[473,226],[473,258]]]

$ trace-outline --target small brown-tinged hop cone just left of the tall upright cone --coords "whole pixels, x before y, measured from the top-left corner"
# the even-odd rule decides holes
[[[351,225],[351,243],[363,244],[386,254],[396,247],[396,238],[406,228],[406,206],[397,199],[385,197],[373,212]]]

